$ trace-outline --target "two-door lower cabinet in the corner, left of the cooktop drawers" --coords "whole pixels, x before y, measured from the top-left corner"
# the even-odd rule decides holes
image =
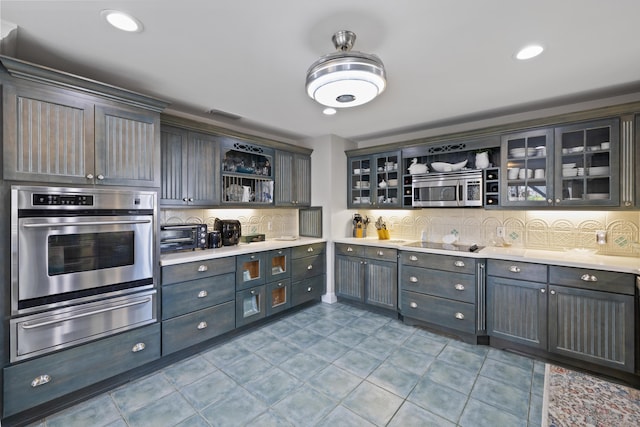
[[[335,284],[338,298],[396,310],[398,251],[336,243]]]

